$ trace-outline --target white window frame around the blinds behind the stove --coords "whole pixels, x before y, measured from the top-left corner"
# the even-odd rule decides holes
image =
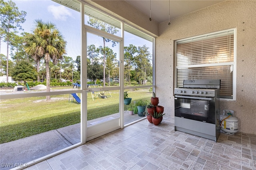
[[[208,38],[209,36],[213,36],[214,34],[221,34],[221,33],[225,33],[225,32],[230,32],[233,31],[234,32],[234,60],[232,62],[226,62],[226,63],[209,63],[209,64],[197,64],[197,65],[181,65],[181,66],[177,66],[177,44],[178,42],[184,42],[186,40],[192,40],[192,41],[196,41],[198,39],[203,39],[202,37],[206,37]],[[232,87],[232,99],[227,99],[227,98],[220,98],[220,100],[223,101],[236,101],[236,42],[237,42],[237,34],[236,34],[236,28],[232,28],[232,29],[228,29],[228,30],[222,30],[222,31],[218,31],[218,32],[212,32],[212,33],[208,33],[208,34],[202,34],[199,36],[192,36],[189,38],[184,38],[184,39],[180,39],[180,40],[174,40],[174,87],[177,88],[178,87],[178,81],[177,81],[177,73],[178,73],[178,69],[180,68],[187,68],[189,67],[211,67],[211,66],[223,66],[223,65],[232,65],[233,66],[233,77],[232,77],[232,81],[233,81],[233,87]]]

